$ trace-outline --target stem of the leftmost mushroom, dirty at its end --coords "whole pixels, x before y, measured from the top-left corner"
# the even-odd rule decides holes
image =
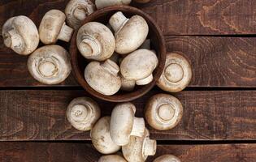
[[[15,49],[15,51],[23,52],[24,51],[24,41],[22,37],[15,32],[15,29],[8,31],[4,34],[4,44],[8,48]]]

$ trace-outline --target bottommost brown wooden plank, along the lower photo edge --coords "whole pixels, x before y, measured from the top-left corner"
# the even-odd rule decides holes
[[[97,162],[101,156],[86,143],[1,143],[0,161],[26,162]],[[256,144],[219,145],[158,145],[155,156],[178,156],[183,162],[241,162],[254,161]]]

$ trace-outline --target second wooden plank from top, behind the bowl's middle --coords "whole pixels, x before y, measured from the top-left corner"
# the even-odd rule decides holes
[[[256,87],[256,38],[166,36],[166,40],[168,52],[184,53],[193,66],[189,87]],[[0,74],[0,87],[44,86],[28,74],[27,57],[3,45]],[[78,84],[71,75],[57,86]]]

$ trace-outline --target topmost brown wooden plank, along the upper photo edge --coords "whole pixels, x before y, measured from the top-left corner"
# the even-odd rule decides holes
[[[0,26],[14,15],[28,15],[37,25],[50,9],[63,10],[68,0],[2,0]],[[19,6],[19,7],[17,7]],[[255,34],[254,0],[152,0],[133,5],[150,14],[166,35]]]

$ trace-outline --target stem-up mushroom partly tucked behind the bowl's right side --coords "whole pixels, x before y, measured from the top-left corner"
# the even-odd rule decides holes
[[[189,85],[192,70],[186,58],[177,53],[167,53],[165,68],[157,85],[163,91],[180,92]]]

